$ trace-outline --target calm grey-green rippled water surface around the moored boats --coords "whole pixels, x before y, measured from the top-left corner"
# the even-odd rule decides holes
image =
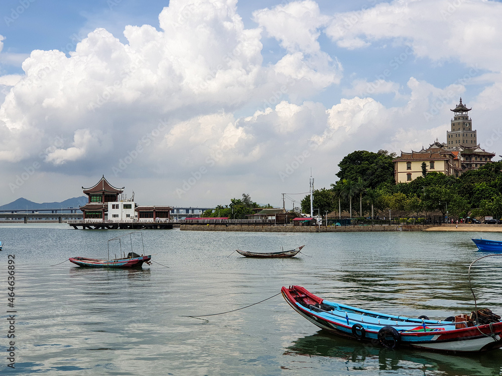
[[[0,225],[0,296],[7,305],[7,255],[16,255],[16,368],[7,367],[0,324],[0,374],[54,375],[499,375],[502,350],[471,357],[388,350],[333,337],[282,297],[301,285],[332,301],[417,317],[472,311],[467,267],[485,233],[273,234],[143,231],[159,264],[94,270],[73,256],[105,258],[107,240],[128,231],[67,225]],[[133,239],[134,240],[134,239]],[[136,246],[135,242],[134,246]],[[306,244],[293,259],[232,252]],[[128,244],[129,246],[129,244]],[[137,249],[135,249],[138,251]],[[117,252],[117,251],[115,251]],[[128,252],[128,250],[126,250]],[[229,256],[230,255],[230,256]],[[502,313],[502,257],[473,267],[478,304]]]

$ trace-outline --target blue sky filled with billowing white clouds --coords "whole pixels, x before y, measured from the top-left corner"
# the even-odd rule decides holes
[[[104,175],[140,205],[288,194],[291,209],[354,150],[445,142],[460,97],[502,154],[497,1],[8,0],[0,15],[0,205]]]

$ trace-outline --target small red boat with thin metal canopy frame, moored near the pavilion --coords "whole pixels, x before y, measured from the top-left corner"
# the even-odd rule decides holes
[[[141,235],[141,244],[143,246],[143,254],[141,255],[132,251],[133,249],[132,234]],[[129,236],[131,240],[131,252],[129,252],[127,256],[126,253],[124,252],[123,257],[114,258],[110,260],[110,242],[118,241],[120,245],[120,255],[122,255],[121,239],[126,236]],[[152,258],[152,255],[144,256],[144,254],[145,254],[145,245],[143,243],[143,234],[141,233],[141,231],[135,231],[108,240],[107,260],[91,259],[88,257],[70,257],[68,260],[78,266],[93,267],[93,268],[141,268],[143,263],[147,263],[148,265],[150,265],[150,259]]]

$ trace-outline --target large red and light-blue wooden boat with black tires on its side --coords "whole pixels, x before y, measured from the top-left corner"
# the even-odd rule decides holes
[[[415,347],[431,351],[482,352],[502,347],[500,316],[489,309],[470,315],[429,320],[355,308],[322,299],[301,286],[281,289],[300,315],[330,333],[384,347]]]

